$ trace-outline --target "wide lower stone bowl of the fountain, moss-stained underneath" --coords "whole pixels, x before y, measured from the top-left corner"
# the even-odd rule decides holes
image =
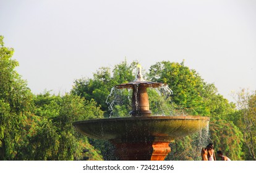
[[[91,138],[114,140],[143,137],[184,137],[207,127],[209,117],[117,117],[74,122],[75,129]]]

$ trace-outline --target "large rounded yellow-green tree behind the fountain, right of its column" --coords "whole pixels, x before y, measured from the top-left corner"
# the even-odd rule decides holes
[[[218,94],[212,83],[204,82],[194,70],[181,63],[162,61],[151,65],[148,80],[169,85],[176,111],[201,116],[228,116],[235,106]]]

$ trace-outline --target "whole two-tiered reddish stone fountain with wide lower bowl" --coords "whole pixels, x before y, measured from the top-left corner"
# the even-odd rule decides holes
[[[132,89],[131,117],[83,120],[73,125],[87,137],[111,141],[121,160],[163,161],[171,151],[171,141],[206,128],[210,120],[200,116],[151,116],[147,88],[164,85],[143,80],[139,67],[134,82],[115,86]]]

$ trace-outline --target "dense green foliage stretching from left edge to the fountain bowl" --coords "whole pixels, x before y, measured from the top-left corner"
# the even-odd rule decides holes
[[[75,132],[77,120],[103,117],[96,102],[49,92],[33,95],[15,71],[14,52],[0,37],[0,160],[101,160],[100,151]],[[88,153],[82,153],[84,149]]]

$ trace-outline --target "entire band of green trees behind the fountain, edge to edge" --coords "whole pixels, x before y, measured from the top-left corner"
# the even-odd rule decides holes
[[[101,67],[93,78],[75,80],[64,96],[48,91],[33,95],[15,71],[19,64],[11,59],[13,53],[0,36],[0,160],[117,159],[111,143],[80,135],[72,123],[129,116],[130,91],[111,89],[135,80],[137,62],[123,61],[113,69]],[[173,90],[165,99],[156,90],[148,90],[153,114],[210,117],[206,131],[170,143],[167,160],[200,160],[200,150],[209,142],[232,160],[255,160],[255,91],[242,90],[234,95],[237,103],[229,103],[184,61],[156,62],[143,74],[146,80],[166,83]],[[85,149],[88,152],[83,153]]]

